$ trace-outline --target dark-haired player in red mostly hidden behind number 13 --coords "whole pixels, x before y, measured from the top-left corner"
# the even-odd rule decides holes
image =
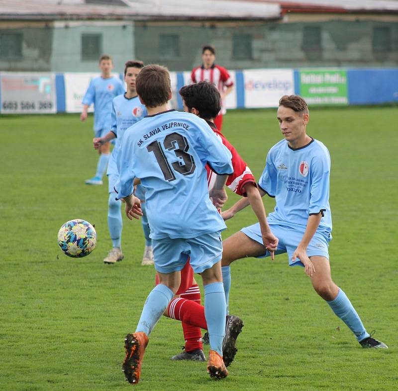
[[[264,205],[250,168],[212,122],[219,112],[220,107],[220,94],[214,84],[208,81],[201,81],[197,84],[187,85],[181,88],[180,94],[183,98],[184,110],[205,119],[217,135],[218,140],[231,152],[234,172],[228,176],[226,185],[234,193],[247,197],[258,218],[264,244],[267,247],[276,247],[278,239],[269,229]],[[208,165],[206,169],[207,183],[210,190],[214,184],[216,174]],[[182,270],[181,285],[177,295],[180,295],[180,297],[175,297],[171,301],[165,315],[182,320],[186,344],[184,352],[177,354],[172,360],[205,361],[200,329],[207,329],[207,325],[204,318],[204,308],[200,306],[199,287],[194,279],[193,270],[189,263]],[[229,366],[234,359],[236,353],[235,341],[242,326],[243,322],[238,316],[227,316],[225,337],[222,345],[225,366]]]

